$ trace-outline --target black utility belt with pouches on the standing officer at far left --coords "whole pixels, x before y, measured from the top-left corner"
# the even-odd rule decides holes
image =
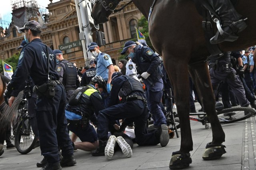
[[[48,83],[44,83],[40,86],[35,85],[33,92],[36,92],[39,97],[44,96],[51,99],[55,96],[55,87],[58,84],[61,84],[60,80],[50,80]]]

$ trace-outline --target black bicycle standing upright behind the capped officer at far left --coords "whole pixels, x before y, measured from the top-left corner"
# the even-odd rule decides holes
[[[14,125],[14,144],[21,154],[29,153],[37,141],[30,125],[27,113],[27,100],[21,99],[18,117]]]

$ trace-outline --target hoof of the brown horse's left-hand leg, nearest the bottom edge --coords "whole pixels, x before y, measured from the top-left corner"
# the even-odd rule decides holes
[[[169,168],[171,170],[179,170],[189,166],[192,163],[190,153],[182,153],[180,151],[172,152]]]

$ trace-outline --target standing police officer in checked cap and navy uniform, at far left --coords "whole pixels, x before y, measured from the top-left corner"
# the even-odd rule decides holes
[[[76,164],[76,160],[74,159],[65,117],[66,94],[55,71],[55,54],[40,40],[42,28],[38,22],[29,21],[19,30],[25,33],[24,39],[28,44],[23,47],[20,53],[17,69],[12,75],[11,83],[8,85],[4,96],[10,97],[8,102],[11,107],[15,97],[24,89],[28,76],[32,78],[37,87],[34,89],[38,89],[36,91],[38,94],[36,119],[40,148],[42,155],[47,159],[46,166],[41,170],[59,170],[61,166],[72,166]],[[46,55],[47,48],[49,57]],[[50,91],[47,90],[48,87]],[[55,95],[50,93],[54,89]],[[58,146],[62,149],[61,162]]]

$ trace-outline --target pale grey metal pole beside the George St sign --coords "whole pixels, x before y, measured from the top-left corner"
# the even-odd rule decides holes
[[[82,41],[84,61],[86,62],[91,58],[93,58],[92,55],[87,52],[87,46],[89,45],[89,43],[92,42],[92,35],[91,35],[91,27],[90,27],[88,11],[87,11],[88,8],[86,7],[89,6],[90,9],[92,8],[91,8],[90,0],[75,0],[75,3],[76,3],[78,25],[80,30],[79,39]]]

